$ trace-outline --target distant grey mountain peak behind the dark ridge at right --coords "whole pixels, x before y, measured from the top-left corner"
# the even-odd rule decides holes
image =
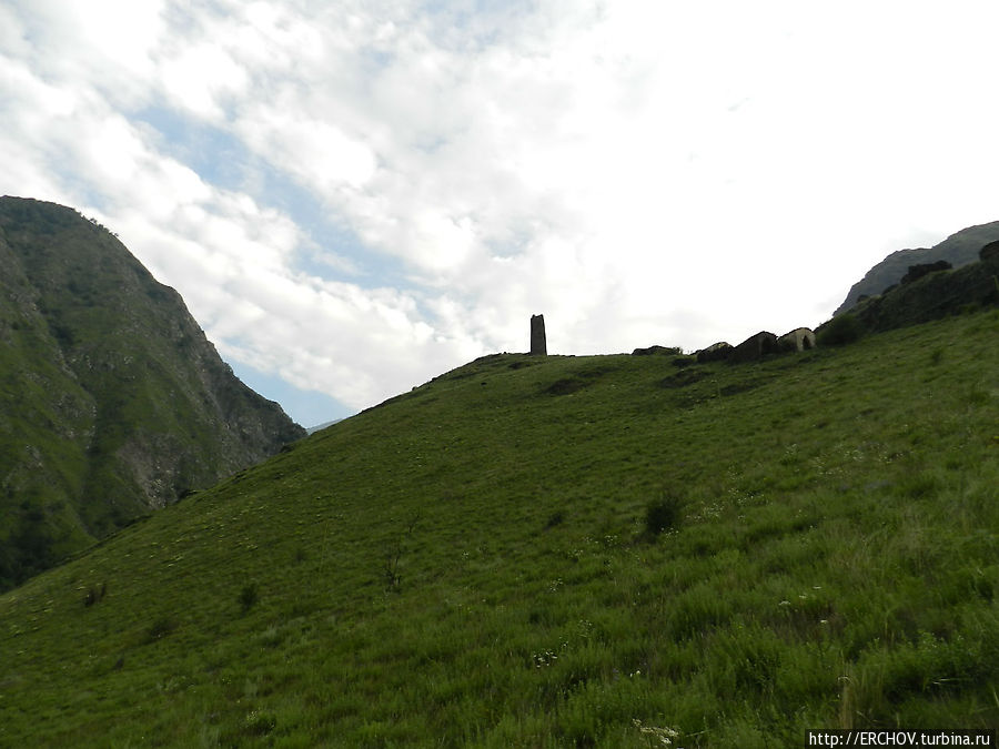
[[[981,246],[996,240],[999,240],[999,221],[962,229],[932,247],[892,252],[854,284],[834,315],[852,308],[864,296],[876,296],[899,283],[911,265],[944,260],[953,267],[960,267],[977,261]]]

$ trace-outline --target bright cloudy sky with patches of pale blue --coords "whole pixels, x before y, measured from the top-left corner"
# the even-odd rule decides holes
[[[0,0],[0,194],[312,426],[477,356],[817,326],[999,220],[993,0]]]

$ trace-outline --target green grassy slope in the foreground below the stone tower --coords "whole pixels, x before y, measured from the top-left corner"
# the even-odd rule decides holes
[[[995,727],[997,332],[477,360],[0,596],[0,745]]]

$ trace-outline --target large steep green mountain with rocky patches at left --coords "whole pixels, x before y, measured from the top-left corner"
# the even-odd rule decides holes
[[[0,588],[303,435],[110,232],[0,199]]]

